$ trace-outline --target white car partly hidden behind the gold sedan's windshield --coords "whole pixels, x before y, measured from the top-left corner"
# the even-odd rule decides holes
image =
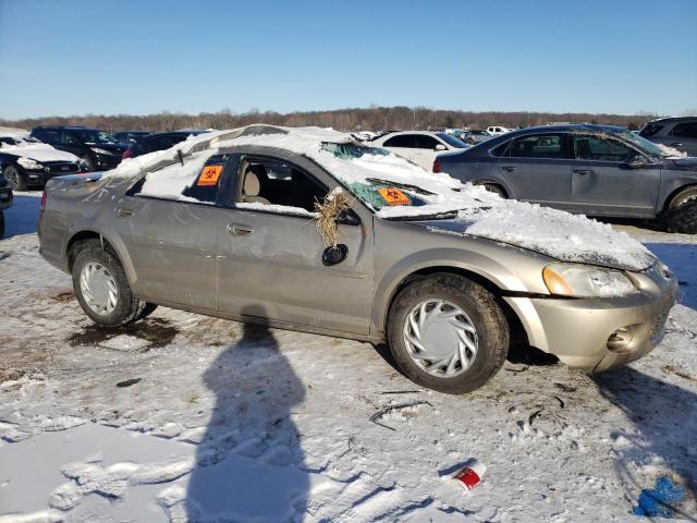
[[[430,170],[441,153],[466,149],[469,146],[448,133],[429,131],[396,131],[379,136],[368,145],[383,147]]]

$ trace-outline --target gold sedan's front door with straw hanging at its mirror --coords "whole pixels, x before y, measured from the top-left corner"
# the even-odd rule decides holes
[[[239,155],[235,163],[237,179],[228,179],[234,184],[229,208],[216,222],[219,308],[233,315],[264,311],[277,323],[367,333],[372,303],[367,217],[352,212],[353,222],[339,224],[347,255],[325,265],[326,246],[309,211],[337,183],[298,157]],[[244,193],[250,170],[259,180],[254,196]]]

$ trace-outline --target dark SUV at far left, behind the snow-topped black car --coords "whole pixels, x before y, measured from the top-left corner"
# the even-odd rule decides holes
[[[113,169],[121,162],[121,155],[126,149],[111,134],[98,129],[39,126],[32,130],[30,136],[80,157],[88,171]]]

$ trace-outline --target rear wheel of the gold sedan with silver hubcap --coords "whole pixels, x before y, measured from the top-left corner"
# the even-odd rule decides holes
[[[76,250],[73,253],[73,290],[85,314],[95,324],[103,327],[118,327],[140,318],[147,304],[131,291],[121,262],[111,247],[105,246],[102,248],[99,240],[87,240],[76,244],[73,248]],[[90,273],[93,276],[88,276]],[[91,292],[89,292],[89,284],[85,285],[81,281],[83,277],[87,282],[93,281]],[[101,285],[99,279],[103,280],[105,278],[110,281],[108,284]],[[107,287],[113,293],[110,293]],[[103,294],[111,295],[112,299],[107,300],[109,304],[103,311],[97,312],[95,304],[100,302]]]

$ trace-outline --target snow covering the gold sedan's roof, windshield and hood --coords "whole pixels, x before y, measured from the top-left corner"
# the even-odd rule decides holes
[[[643,270],[655,263],[653,255],[644,245],[607,223],[539,205],[505,200],[445,173],[428,172],[384,149],[360,145],[350,134],[320,127],[249,125],[191,136],[175,148],[125,160],[111,171],[111,175],[129,175],[170,165],[168,172],[154,177],[160,178],[161,182],[150,183],[148,187],[149,194],[164,191],[167,184],[163,179],[178,170],[171,163],[179,161],[178,150],[181,150],[182,157],[192,157],[186,160],[191,161],[192,168],[186,165],[179,168],[182,172],[176,177],[178,182],[166,190],[166,196],[171,196],[172,191],[181,191],[186,184],[194,183],[207,158],[223,148],[241,145],[282,148],[315,160],[381,218],[416,219],[450,214],[462,226],[458,228],[462,234],[529,248],[561,260],[611,265],[629,270]],[[357,192],[356,187],[360,185],[378,191],[376,180],[380,182],[378,185],[398,187],[407,199],[418,200],[420,205],[371,205],[371,200],[360,196],[358,193],[363,192]],[[421,191],[412,191],[409,186]]]

